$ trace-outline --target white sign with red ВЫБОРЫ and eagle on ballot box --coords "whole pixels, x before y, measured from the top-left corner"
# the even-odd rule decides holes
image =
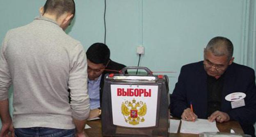
[[[111,85],[113,124],[142,128],[156,125],[158,86]]]

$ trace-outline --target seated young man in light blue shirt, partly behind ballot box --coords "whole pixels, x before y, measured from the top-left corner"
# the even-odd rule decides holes
[[[125,65],[110,60],[110,50],[103,43],[92,44],[87,50],[86,55],[88,63],[88,93],[91,104],[89,118],[92,119],[101,115],[105,74],[118,73],[117,71],[123,69]]]

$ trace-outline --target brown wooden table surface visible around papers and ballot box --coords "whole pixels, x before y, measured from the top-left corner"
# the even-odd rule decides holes
[[[87,124],[91,127],[85,129],[85,132],[89,137],[102,137],[101,135],[101,120],[89,121]],[[180,124],[181,126],[181,124]],[[220,132],[230,133],[230,130],[233,129],[235,133],[244,134],[240,124],[235,121],[229,121],[224,123],[217,122],[217,128]],[[179,127],[180,130],[180,127]],[[185,134],[185,133],[169,133],[169,137],[199,137],[197,134]]]

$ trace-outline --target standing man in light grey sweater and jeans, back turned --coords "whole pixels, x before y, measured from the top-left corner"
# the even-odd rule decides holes
[[[86,54],[64,30],[73,0],[47,0],[41,16],[7,32],[0,53],[0,137],[84,137],[89,116]],[[13,120],[8,89],[14,86]],[[69,104],[69,92],[71,103]]]

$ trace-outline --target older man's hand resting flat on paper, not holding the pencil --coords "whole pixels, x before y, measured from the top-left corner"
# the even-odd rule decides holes
[[[225,112],[221,111],[215,111],[210,117],[208,117],[208,120],[210,122],[213,122],[216,119],[217,122],[222,123],[222,122],[227,122],[229,121],[229,115]]]

